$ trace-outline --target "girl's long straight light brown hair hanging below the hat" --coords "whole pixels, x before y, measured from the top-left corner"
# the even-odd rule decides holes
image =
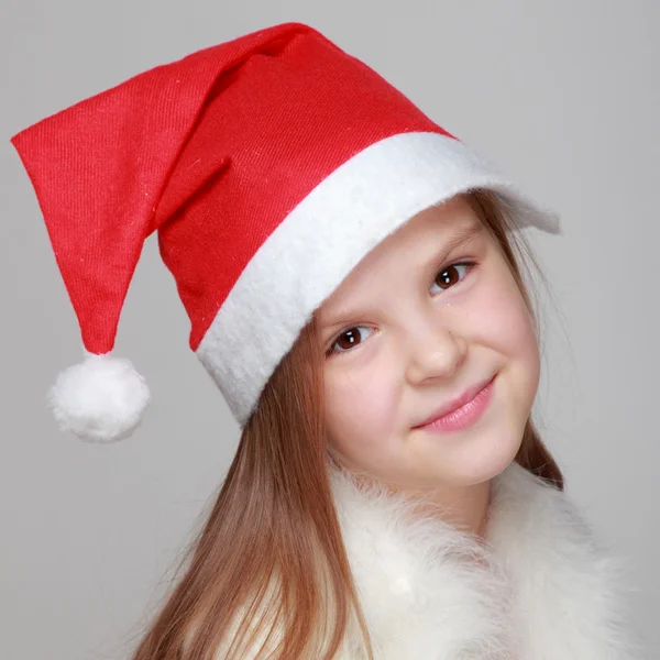
[[[525,238],[498,195],[465,196],[502,249],[540,344],[538,299],[532,302],[520,267],[529,262],[542,273]],[[363,635],[364,658],[373,660],[330,488],[322,369],[312,317],[268,381],[208,519],[132,660],[330,660],[350,620]],[[563,490],[531,415],[515,460]],[[272,654],[256,654],[257,641]]]

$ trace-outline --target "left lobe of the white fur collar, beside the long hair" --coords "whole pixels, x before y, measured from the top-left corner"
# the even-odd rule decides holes
[[[512,594],[481,546],[438,518],[414,517],[402,495],[382,486],[361,492],[333,471],[332,487],[378,659],[508,657]],[[341,660],[359,657],[352,630]]]

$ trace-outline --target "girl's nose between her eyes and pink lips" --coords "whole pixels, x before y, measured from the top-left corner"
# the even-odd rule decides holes
[[[410,336],[408,380],[419,384],[432,378],[451,378],[468,355],[468,341],[441,323],[421,327]]]

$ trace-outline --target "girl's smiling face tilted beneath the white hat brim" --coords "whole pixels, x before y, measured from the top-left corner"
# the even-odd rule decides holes
[[[442,487],[483,483],[514,460],[540,356],[497,242],[464,197],[387,237],[317,315],[329,450],[340,463],[402,487]],[[472,426],[414,428],[492,376],[490,403]]]

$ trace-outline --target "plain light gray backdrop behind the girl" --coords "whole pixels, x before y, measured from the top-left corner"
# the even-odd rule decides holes
[[[153,393],[142,429],[90,446],[43,402],[80,359],[77,321],[9,138],[157,64],[307,22],[556,207],[528,234],[552,285],[536,403],[566,491],[629,561],[632,625],[660,646],[658,106],[654,0],[331,3],[2,0],[0,658],[128,658],[238,441],[188,349],[152,237],[117,352]]]

